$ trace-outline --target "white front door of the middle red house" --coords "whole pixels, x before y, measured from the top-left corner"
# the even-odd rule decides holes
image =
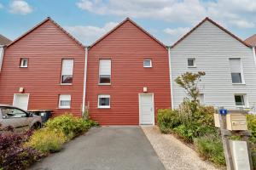
[[[153,94],[139,94],[139,122],[141,125],[154,125]]]

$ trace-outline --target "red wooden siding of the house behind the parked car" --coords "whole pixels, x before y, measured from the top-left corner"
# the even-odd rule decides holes
[[[28,68],[19,68],[27,58]],[[74,59],[73,85],[60,85],[61,59]],[[80,116],[84,82],[84,48],[52,20],[45,22],[5,50],[0,73],[0,103],[13,104],[18,88],[30,94],[28,109],[66,111]],[[71,109],[58,109],[59,94],[71,94]]]

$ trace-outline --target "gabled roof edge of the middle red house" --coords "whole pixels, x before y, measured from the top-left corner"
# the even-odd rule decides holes
[[[103,35],[102,37],[100,37],[98,40],[96,40],[96,42],[92,43],[90,45],[90,48],[95,46],[98,42],[101,42],[105,37],[108,37],[108,35],[110,35],[113,31],[116,31],[120,26],[123,26],[125,24],[125,22],[130,21],[131,24],[133,24],[134,26],[136,26],[139,30],[143,31],[145,34],[148,35],[148,37],[151,37],[155,42],[158,42],[160,44],[160,46],[166,48],[166,45],[163,44],[162,42],[160,42],[158,39],[156,39],[155,37],[153,37],[151,34],[148,33],[148,31],[144,30],[143,27],[138,26],[136,22],[134,22],[133,20],[131,20],[129,17],[127,17],[125,20],[123,20],[122,22],[119,23],[118,26],[115,26],[111,31],[108,31],[108,33],[106,33],[105,35]]]

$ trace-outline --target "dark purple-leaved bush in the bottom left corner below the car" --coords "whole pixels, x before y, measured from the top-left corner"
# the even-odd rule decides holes
[[[0,134],[0,167],[5,170],[26,169],[44,156],[32,147],[23,146],[31,134],[12,131]]]

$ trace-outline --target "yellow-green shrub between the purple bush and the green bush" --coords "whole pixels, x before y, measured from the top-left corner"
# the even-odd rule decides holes
[[[52,153],[61,150],[62,144],[66,141],[67,137],[60,130],[44,127],[35,131],[25,145],[43,153]]]

